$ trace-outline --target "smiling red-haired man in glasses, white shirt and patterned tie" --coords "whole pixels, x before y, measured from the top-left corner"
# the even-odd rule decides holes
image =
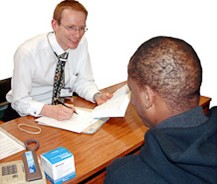
[[[12,90],[6,95],[11,105],[3,121],[26,115],[69,119],[74,107],[57,104],[55,99],[64,102],[64,97],[72,96],[72,92],[98,105],[112,97],[101,93],[94,82],[84,37],[87,15],[78,1],[62,1],[54,10],[53,32],[38,35],[18,47],[14,55]],[[62,56],[64,64],[58,69]],[[12,116],[13,109],[16,112]]]

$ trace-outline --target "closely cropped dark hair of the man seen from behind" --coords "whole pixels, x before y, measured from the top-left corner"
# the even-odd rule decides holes
[[[154,37],[131,57],[128,77],[142,88],[150,86],[171,111],[198,105],[202,68],[191,45],[172,37]]]

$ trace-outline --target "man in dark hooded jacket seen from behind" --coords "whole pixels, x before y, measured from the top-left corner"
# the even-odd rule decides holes
[[[144,42],[128,65],[131,103],[150,129],[140,153],[107,167],[106,184],[217,183],[217,108],[198,105],[202,68],[191,45]]]

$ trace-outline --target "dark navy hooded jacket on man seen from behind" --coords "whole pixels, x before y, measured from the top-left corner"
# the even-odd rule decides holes
[[[217,183],[217,107],[196,107],[150,129],[138,155],[107,167],[106,184]]]

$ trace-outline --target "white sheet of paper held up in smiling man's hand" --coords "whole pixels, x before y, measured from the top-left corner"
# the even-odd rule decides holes
[[[124,117],[129,101],[129,88],[127,85],[124,85],[113,94],[111,99],[95,107],[92,111],[92,117]]]

